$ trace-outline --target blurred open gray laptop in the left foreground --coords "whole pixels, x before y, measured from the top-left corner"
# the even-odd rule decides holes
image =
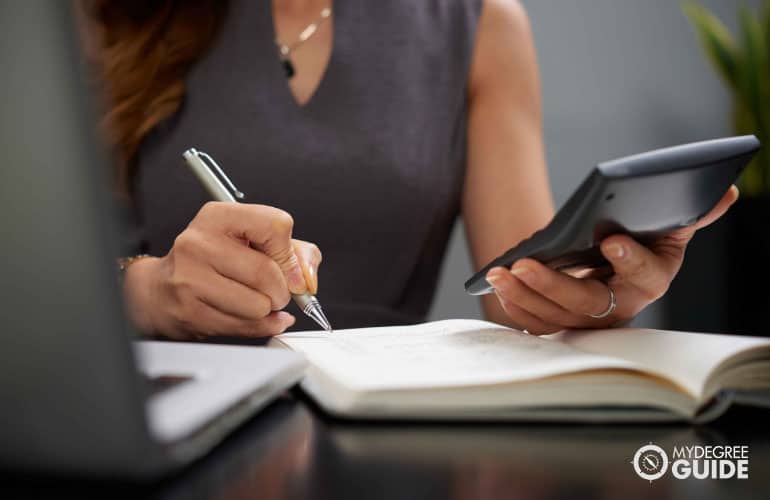
[[[153,477],[211,449],[305,361],[137,340],[70,9],[0,3],[0,466]]]

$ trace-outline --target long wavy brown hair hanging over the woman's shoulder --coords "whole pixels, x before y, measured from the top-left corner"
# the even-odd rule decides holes
[[[100,127],[130,195],[136,153],[179,109],[185,77],[214,39],[223,0],[78,0],[85,53],[103,98]]]

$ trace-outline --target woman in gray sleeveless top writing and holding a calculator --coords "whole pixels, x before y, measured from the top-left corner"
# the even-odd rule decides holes
[[[132,259],[124,285],[148,332],[313,328],[281,310],[290,291],[316,291],[319,248],[336,328],[419,322],[458,213],[476,268],[554,213],[515,0],[83,6],[137,252],[154,256]],[[180,163],[189,147],[217,158],[252,204],[206,204]],[[697,228],[651,248],[607,238],[605,281],[528,259],[493,269],[486,316],[533,334],[627,321],[666,291]],[[617,308],[592,317],[609,311],[610,289]]]

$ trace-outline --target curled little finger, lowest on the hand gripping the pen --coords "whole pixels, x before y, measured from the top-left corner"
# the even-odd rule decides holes
[[[216,307],[199,301],[192,317],[180,321],[182,330],[198,338],[208,336],[269,337],[283,333],[296,318],[284,311],[274,311],[259,319],[246,320],[226,314]]]

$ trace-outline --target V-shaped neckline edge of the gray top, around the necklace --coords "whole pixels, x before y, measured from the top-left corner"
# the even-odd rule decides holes
[[[284,71],[283,65],[281,64],[281,58],[278,53],[277,47],[275,47],[275,39],[276,39],[276,25],[275,25],[275,12],[273,11],[273,1],[267,0],[268,7],[268,16],[267,16],[267,29],[268,34],[270,35],[268,37],[268,41],[270,43],[270,48],[272,49],[272,53],[274,54],[274,62],[275,64],[271,64],[270,67],[272,68],[272,78],[274,80],[278,80],[278,86],[281,87],[281,92],[284,94],[285,98],[289,100],[289,104],[291,104],[295,109],[299,111],[307,110],[309,109],[316,101],[319,100],[320,97],[323,97],[324,88],[329,85],[328,81],[330,79],[330,76],[334,74],[334,66],[338,58],[339,53],[339,34],[341,33],[340,30],[340,20],[342,19],[342,16],[340,15],[340,5],[343,2],[333,2],[332,5],[332,47],[331,47],[331,54],[329,55],[329,60],[326,62],[326,67],[323,70],[323,73],[321,74],[321,79],[318,81],[318,84],[316,85],[313,92],[310,94],[310,97],[308,97],[307,101],[305,101],[303,104],[300,104],[300,102],[297,100],[297,97],[294,95],[294,92],[291,90],[291,86],[289,85],[289,79],[286,78],[286,73]]]

